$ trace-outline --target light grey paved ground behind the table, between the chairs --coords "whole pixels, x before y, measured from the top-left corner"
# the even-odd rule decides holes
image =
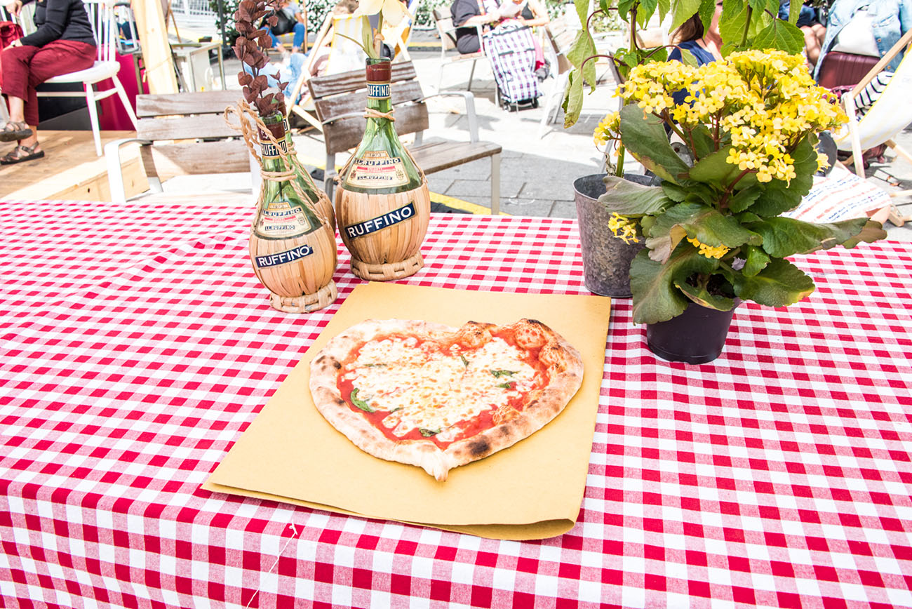
[[[419,45],[411,49],[411,57],[419,74],[425,94],[442,88],[465,89],[471,69],[469,62],[446,65],[441,73],[440,50],[430,45],[430,33],[418,33]],[[229,87],[236,86],[236,61],[226,62]],[[596,93],[586,95],[579,121],[570,129],[563,127],[563,111],[558,110],[555,122],[542,125],[546,100],[554,88],[554,78],[543,84],[545,96],[539,108],[506,112],[494,105],[494,81],[490,67],[479,62],[472,82],[475,109],[478,113],[480,138],[503,146],[501,169],[501,210],[514,215],[575,217],[573,181],[575,178],[600,171],[601,154],[592,141],[592,131],[609,108],[617,108],[610,77]],[[559,103],[559,102],[558,102]],[[467,119],[460,98],[430,100],[430,129],[426,137],[467,139]],[[912,129],[898,139],[912,150]],[[324,149],[316,131],[305,131],[295,137],[295,146],[302,160],[310,166],[322,167]],[[891,156],[892,153],[888,153]],[[345,159],[338,155],[337,163]],[[912,165],[903,160],[888,159],[884,165],[875,164],[868,170],[872,180],[888,191],[912,189]],[[458,168],[428,176],[430,190],[459,201],[484,206],[490,203],[490,161],[479,160]],[[896,185],[880,178],[896,177]],[[444,200],[446,201],[446,200]],[[900,209],[912,215],[912,198],[896,200]],[[478,211],[477,207],[466,206]],[[483,212],[483,210],[482,210]],[[891,239],[912,242],[912,223],[899,228],[887,226]]]

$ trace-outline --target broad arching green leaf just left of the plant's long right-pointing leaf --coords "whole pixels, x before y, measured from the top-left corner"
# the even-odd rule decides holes
[[[685,237],[700,243],[735,248],[744,243],[760,243],[760,236],[741,227],[731,216],[699,203],[679,203],[658,216],[649,231],[646,246],[654,251],[653,260],[664,261]]]

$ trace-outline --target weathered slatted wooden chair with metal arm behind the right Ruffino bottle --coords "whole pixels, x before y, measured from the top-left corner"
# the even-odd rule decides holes
[[[307,87],[314,98],[317,119],[323,124],[326,143],[326,194],[332,198],[336,174],[336,155],[358,146],[364,135],[367,119],[367,82],[364,70],[353,70],[330,76],[313,77]],[[426,174],[447,170],[472,160],[491,159],[491,212],[500,213],[501,146],[479,141],[475,118],[475,100],[468,91],[438,93],[438,96],[459,96],[465,99],[469,120],[469,141],[435,140],[422,143],[429,127],[428,108],[411,62],[392,65],[390,98],[396,110],[396,132],[399,137],[415,134],[415,144],[409,152]]]

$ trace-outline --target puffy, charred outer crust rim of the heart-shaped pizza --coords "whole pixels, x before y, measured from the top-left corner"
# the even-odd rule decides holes
[[[349,354],[377,336],[402,333],[431,339],[451,340],[456,335],[466,346],[481,346],[491,340],[496,326],[468,322],[461,328],[420,320],[368,319],[332,338],[310,364],[310,392],[316,409],[359,449],[379,459],[418,466],[437,480],[446,480],[449,470],[513,446],[528,438],[556,417],[575,395],[583,380],[579,352],[547,325],[522,319],[505,326],[523,347],[540,347],[539,359],[548,366],[549,382],[535,390],[532,401],[519,415],[471,438],[440,449],[431,439],[389,439],[367,418],[349,408],[337,386],[337,377]]]

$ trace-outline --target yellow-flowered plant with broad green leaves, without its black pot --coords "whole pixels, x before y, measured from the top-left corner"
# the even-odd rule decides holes
[[[619,238],[632,224],[645,238],[630,266],[635,322],[667,321],[690,302],[722,311],[735,298],[792,305],[814,282],[787,256],[886,236],[867,218],[780,217],[825,163],[816,134],[846,120],[803,57],[767,49],[700,67],[641,64],[618,93],[625,105],[599,123],[596,142],[622,146],[660,179],[642,186],[608,176],[599,199],[617,214]]]

